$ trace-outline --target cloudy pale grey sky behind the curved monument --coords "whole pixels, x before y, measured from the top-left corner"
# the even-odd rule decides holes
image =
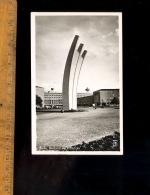
[[[62,92],[66,59],[75,35],[87,55],[77,92],[119,88],[118,16],[36,16],[36,86]]]

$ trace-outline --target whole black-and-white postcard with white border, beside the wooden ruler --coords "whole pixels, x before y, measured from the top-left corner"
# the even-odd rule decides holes
[[[32,154],[123,155],[121,12],[31,12]]]

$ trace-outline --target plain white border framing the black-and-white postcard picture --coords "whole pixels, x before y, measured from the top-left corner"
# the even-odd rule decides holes
[[[120,90],[120,151],[37,151],[36,150],[36,16],[118,16],[119,17],[119,90]],[[31,144],[34,155],[123,155],[123,56],[121,12],[31,12]]]

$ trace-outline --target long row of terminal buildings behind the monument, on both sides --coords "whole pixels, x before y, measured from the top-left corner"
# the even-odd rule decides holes
[[[48,91],[44,92],[43,87],[36,86],[36,95],[40,96],[43,100],[44,106],[61,106],[63,104],[62,93]],[[95,104],[96,106],[107,106],[110,105],[114,97],[119,98],[119,89],[100,89],[94,91],[93,94],[86,93],[77,93],[77,105],[84,106]]]

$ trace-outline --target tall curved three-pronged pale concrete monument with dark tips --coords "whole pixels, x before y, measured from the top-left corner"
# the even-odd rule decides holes
[[[75,35],[71,44],[68,57],[66,60],[64,76],[63,76],[63,110],[77,110],[77,86],[80,76],[80,71],[87,51],[83,49],[81,43],[76,49],[79,36]],[[81,54],[82,53],[82,54]]]

